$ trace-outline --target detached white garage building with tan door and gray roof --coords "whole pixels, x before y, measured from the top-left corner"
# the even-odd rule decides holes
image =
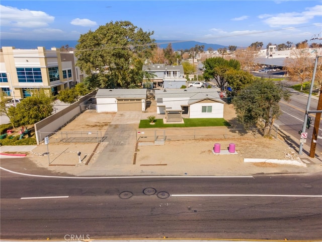
[[[146,89],[99,89],[97,112],[145,111]]]

